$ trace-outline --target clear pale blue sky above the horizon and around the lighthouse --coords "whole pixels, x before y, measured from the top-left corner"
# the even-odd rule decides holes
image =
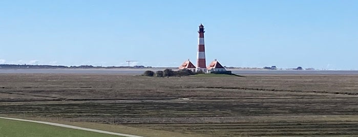
[[[358,1],[0,1],[0,64],[358,70]]]

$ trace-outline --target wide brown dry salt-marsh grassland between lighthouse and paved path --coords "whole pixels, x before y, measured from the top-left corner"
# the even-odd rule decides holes
[[[0,115],[162,136],[358,136],[358,76],[0,74]]]

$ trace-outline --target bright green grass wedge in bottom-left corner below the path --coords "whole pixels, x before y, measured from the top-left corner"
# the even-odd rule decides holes
[[[0,119],[0,137],[6,136],[116,136],[110,134],[102,134],[90,131],[70,129],[65,127],[57,127],[46,124],[38,124],[32,122],[22,122],[14,120]]]

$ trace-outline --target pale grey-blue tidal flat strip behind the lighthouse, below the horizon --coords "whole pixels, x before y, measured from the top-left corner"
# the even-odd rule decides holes
[[[151,68],[116,68],[116,69],[0,69],[0,74],[123,74],[140,75],[145,71],[163,71],[165,69],[178,70],[177,67]],[[358,71],[339,70],[255,70],[255,69],[227,69],[238,75],[358,75]]]

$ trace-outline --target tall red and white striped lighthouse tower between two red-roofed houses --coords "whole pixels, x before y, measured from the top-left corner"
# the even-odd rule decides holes
[[[197,55],[197,64],[196,72],[206,72],[206,63],[205,63],[205,45],[204,45],[204,26],[200,24],[199,26],[199,39],[198,39],[198,55]]]

